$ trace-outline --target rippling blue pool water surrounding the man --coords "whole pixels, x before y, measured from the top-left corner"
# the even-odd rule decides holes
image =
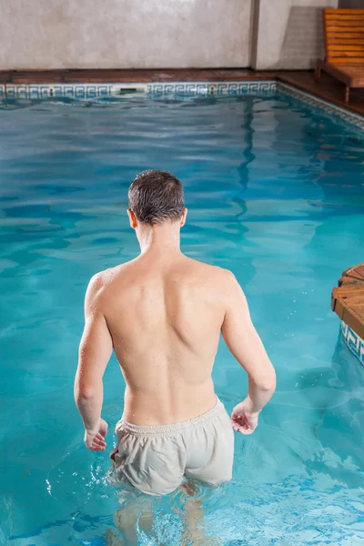
[[[88,279],[138,251],[126,191],[145,168],[184,183],[183,249],[237,275],[278,372],[258,430],[237,436],[234,480],[203,494],[207,535],[363,544],[364,369],[330,311],[340,272],[363,260],[362,136],[284,95],[8,101],[0,126],[0,544],[121,543],[123,500],[107,454],[83,445],[73,380]],[[245,397],[223,344],[214,378],[228,410]],[[111,428],[123,390],[112,359]],[[154,511],[141,544],[189,543],[178,495]]]

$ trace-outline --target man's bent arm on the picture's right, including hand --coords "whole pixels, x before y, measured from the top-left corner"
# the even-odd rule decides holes
[[[235,430],[251,434],[258,425],[258,414],[276,389],[276,372],[250,319],[248,302],[237,279],[228,273],[227,308],[222,335],[227,348],[248,373],[248,396],[233,410]]]

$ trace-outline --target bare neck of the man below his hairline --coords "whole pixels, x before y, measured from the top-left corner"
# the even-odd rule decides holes
[[[141,254],[180,252],[180,228],[169,222],[138,228],[137,238]]]

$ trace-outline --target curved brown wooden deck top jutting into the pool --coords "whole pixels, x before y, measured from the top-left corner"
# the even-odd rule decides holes
[[[343,272],[339,287],[332,290],[331,308],[364,339],[364,263]]]

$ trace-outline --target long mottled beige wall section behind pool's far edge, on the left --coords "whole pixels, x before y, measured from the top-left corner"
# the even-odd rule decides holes
[[[251,5],[1,0],[0,69],[249,66]]]

